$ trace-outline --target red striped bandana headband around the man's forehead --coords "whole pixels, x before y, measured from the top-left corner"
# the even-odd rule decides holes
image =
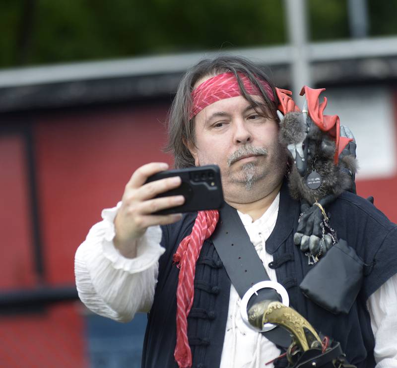
[[[238,73],[245,90],[249,95],[261,96],[260,89],[253,85],[251,80],[243,73]],[[274,102],[273,92],[267,82],[258,78],[258,82],[265,90],[268,98]],[[222,73],[215,75],[201,83],[192,92],[193,110],[190,119],[195,117],[199,112],[208,105],[225,98],[241,96],[241,90],[236,76],[231,73]]]

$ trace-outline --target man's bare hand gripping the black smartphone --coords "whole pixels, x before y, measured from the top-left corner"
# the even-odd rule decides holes
[[[125,257],[136,257],[137,240],[149,226],[167,225],[181,219],[181,214],[152,215],[153,212],[183,204],[183,195],[154,198],[181,185],[180,177],[145,184],[150,175],[167,170],[166,163],[152,162],[138,168],[127,183],[122,205],[115,218],[114,245]]]

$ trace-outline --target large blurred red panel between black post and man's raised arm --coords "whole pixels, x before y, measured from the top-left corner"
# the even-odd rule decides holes
[[[37,175],[47,280],[74,282],[73,259],[101,209],[121,199],[133,171],[161,152],[168,106],[71,112],[36,125]]]

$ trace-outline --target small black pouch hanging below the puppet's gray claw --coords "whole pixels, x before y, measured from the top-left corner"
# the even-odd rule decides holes
[[[364,262],[346,241],[339,239],[306,274],[302,293],[328,311],[348,313],[363,281]]]

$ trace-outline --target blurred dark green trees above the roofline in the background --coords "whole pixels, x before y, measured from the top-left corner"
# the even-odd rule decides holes
[[[311,40],[349,37],[346,2],[308,0]],[[396,10],[368,0],[370,34]],[[284,18],[281,0],[1,0],[0,67],[283,44]]]

